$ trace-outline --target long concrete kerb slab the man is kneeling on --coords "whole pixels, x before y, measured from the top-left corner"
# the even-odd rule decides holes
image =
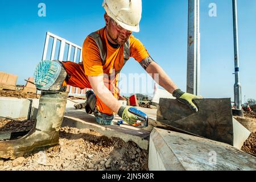
[[[142,107],[139,107],[139,109],[147,113],[150,118],[156,118],[156,109]],[[118,126],[117,123],[119,120],[121,120],[121,118],[116,115],[113,125],[102,126],[97,124],[94,115],[86,114],[85,110],[66,109],[62,126],[77,127],[79,129],[94,129],[109,138],[117,137],[123,139],[125,142],[131,140],[137,143],[139,147],[147,150],[150,131],[138,129],[127,123]]]

